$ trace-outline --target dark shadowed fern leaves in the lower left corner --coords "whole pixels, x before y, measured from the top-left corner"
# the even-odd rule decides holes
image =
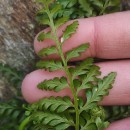
[[[25,118],[25,109],[22,108],[23,101],[13,99],[0,103],[0,129],[17,130],[21,121]]]

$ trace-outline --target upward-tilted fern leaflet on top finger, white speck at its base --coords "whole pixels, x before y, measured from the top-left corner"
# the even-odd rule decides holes
[[[63,42],[70,38],[78,28],[78,21],[74,21],[72,24],[68,25],[63,33],[62,39]]]

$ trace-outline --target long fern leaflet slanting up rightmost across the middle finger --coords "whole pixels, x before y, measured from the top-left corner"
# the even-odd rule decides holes
[[[111,89],[115,77],[116,73],[112,72],[108,76],[104,77],[102,80],[99,80],[98,85],[93,87],[92,91],[87,90],[87,102],[81,108],[80,112],[93,108],[97,102],[102,100],[103,96],[108,95],[109,89]]]

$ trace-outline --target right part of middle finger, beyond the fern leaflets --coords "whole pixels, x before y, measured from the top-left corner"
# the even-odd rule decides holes
[[[105,96],[102,105],[129,105],[130,104],[130,60],[119,60],[97,63],[101,68],[102,76],[116,72],[117,77],[108,96]]]

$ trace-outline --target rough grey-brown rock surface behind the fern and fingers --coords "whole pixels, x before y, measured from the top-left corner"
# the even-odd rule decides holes
[[[122,0],[122,9],[130,9],[130,1]],[[38,6],[34,0],[0,0],[0,63],[30,71],[35,61],[33,51],[35,13]],[[5,98],[10,88],[0,75],[0,91]],[[6,89],[4,89],[6,88]],[[0,98],[3,93],[0,93]]]

